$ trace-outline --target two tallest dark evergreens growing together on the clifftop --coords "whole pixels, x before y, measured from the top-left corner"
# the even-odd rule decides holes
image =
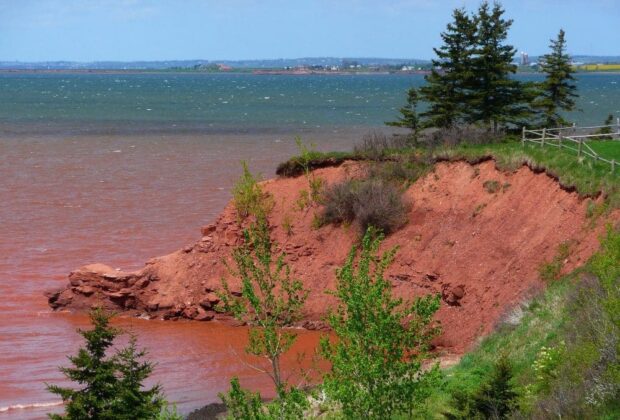
[[[420,89],[429,103],[422,113],[425,127],[483,124],[495,133],[531,116],[527,103],[536,92],[533,85],[511,77],[516,50],[506,44],[512,20],[503,15],[498,3],[491,7],[486,1],[473,16],[454,10],[441,34],[443,45],[435,49],[437,59],[427,84]]]

